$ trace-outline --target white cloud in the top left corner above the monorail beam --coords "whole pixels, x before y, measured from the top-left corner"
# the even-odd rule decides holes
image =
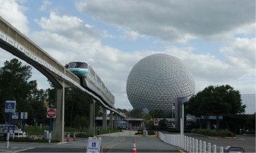
[[[24,8],[15,0],[0,0],[0,16],[23,34],[28,34],[28,20],[23,13]]]

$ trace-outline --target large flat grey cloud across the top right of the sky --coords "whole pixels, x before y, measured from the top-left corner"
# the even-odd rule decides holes
[[[255,1],[77,1],[77,10],[96,20],[142,35],[185,43],[219,40],[254,30]],[[255,26],[254,26],[255,27]]]

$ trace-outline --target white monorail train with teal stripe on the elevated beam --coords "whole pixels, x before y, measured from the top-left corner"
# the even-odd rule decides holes
[[[82,80],[82,86],[98,94],[109,106],[114,107],[115,97],[87,62],[70,62],[68,70]]]

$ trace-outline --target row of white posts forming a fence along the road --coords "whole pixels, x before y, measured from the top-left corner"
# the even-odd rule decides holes
[[[205,141],[202,142],[201,140],[185,135],[168,135],[159,132],[158,138],[165,143],[180,147],[187,152],[217,152],[217,146],[215,144],[213,146],[211,146],[211,143],[206,145]],[[219,147],[218,152],[223,152],[223,147]]]

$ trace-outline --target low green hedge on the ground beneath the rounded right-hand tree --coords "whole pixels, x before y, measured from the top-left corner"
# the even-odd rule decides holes
[[[235,133],[230,132],[229,130],[208,130],[208,129],[192,129],[191,133],[198,133],[201,135],[208,136],[221,136],[221,137],[235,137]]]

